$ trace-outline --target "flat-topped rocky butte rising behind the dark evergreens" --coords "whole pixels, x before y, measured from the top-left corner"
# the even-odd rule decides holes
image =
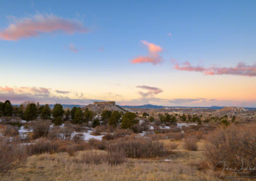
[[[123,108],[116,105],[115,101],[94,102],[93,104],[87,105],[84,108],[88,108],[90,111],[95,113],[101,113],[103,110],[126,112]]]

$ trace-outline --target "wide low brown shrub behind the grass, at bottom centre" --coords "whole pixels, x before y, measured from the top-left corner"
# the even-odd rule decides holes
[[[150,158],[163,156],[165,153],[163,143],[148,138],[118,140],[108,147],[110,153],[124,152],[126,157]]]

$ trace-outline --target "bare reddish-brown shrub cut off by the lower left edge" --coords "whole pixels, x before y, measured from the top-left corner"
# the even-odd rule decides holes
[[[16,140],[0,137],[0,172],[12,168],[14,162],[26,159],[26,150]]]

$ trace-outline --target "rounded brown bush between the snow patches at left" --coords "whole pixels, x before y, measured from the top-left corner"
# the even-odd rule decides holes
[[[33,127],[33,139],[45,137],[49,132],[49,124],[45,121],[34,122]]]

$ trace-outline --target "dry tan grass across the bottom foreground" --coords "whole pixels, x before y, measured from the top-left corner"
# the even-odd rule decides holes
[[[184,158],[127,159],[127,163],[109,166],[108,163],[86,163],[82,155],[86,151],[70,157],[67,153],[41,154],[31,156],[20,168],[2,175],[2,180],[215,180],[209,170],[198,170],[198,165],[190,162],[202,155],[185,152]],[[98,154],[104,154],[99,152]],[[199,154],[199,153],[198,153]],[[183,156],[183,155],[182,155]],[[78,162],[77,162],[78,160]],[[187,164],[188,163],[188,164]]]

